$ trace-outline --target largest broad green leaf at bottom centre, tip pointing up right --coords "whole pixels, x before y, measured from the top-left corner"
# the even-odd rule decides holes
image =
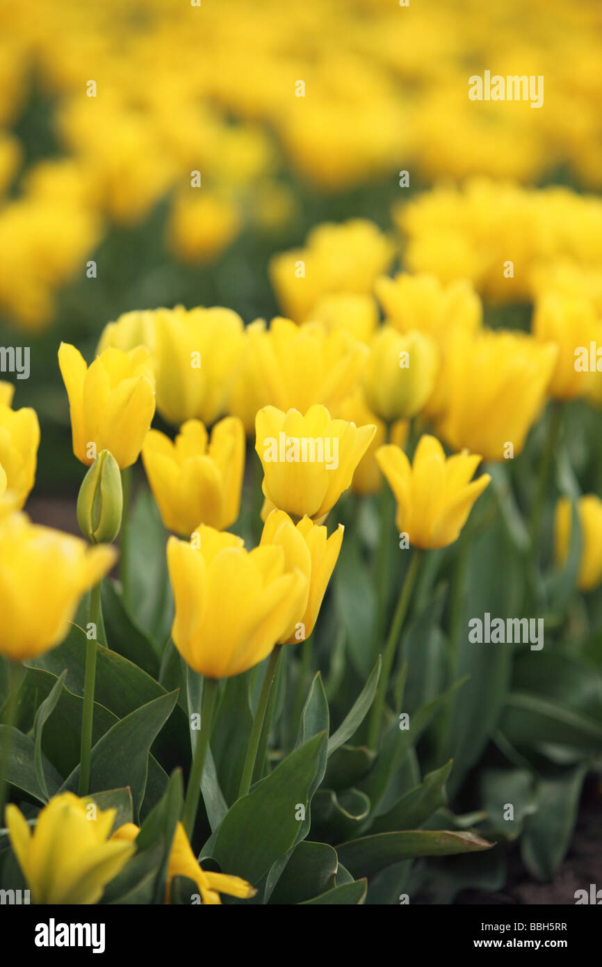
[[[253,885],[300,835],[310,790],[324,756],[326,732],[310,739],[231,806],[217,831],[212,855],[224,872]]]

